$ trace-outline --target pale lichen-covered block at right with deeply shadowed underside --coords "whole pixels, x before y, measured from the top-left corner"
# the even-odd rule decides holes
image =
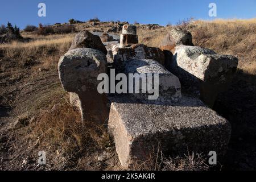
[[[167,69],[180,78],[183,90],[200,96],[210,107],[218,93],[232,82],[238,65],[234,56],[217,55],[210,49],[193,46],[177,46],[170,62]]]

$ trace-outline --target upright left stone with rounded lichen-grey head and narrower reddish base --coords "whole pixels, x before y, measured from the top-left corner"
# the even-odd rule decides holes
[[[61,84],[71,92],[71,104],[80,107],[84,121],[104,123],[108,118],[106,96],[97,91],[97,77],[106,72],[106,56],[96,49],[72,49],[60,58]]]

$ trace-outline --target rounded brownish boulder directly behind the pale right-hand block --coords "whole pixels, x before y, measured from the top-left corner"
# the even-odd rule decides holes
[[[194,46],[192,43],[192,35],[187,30],[172,28],[162,40],[159,48],[162,49],[162,51],[167,50],[174,53],[175,47],[180,45]]]

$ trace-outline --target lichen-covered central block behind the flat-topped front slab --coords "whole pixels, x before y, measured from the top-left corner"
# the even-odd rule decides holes
[[[134,80],[141,80],[139,93],[133,93],[133,95],[139,100],[148,101],[148,96],[152,94],[147,93],[148,76],[152,76],[152,86],[154,86],[155,92],[158,92],[158,98],[152,99],[154,103],[163,103],[167,101],[177,101],[181,98],[181,86],[179,78],[167,71],[162,65],[154,60],[130,60],[125,66],[125,73],[128,76],[129,73],[136,74]],[[156,74],[158,80],[156,81]],[[144,77],[143,77],[144,76]],[[150,84],[151,84],[150,83]],[[154,85],[153,83],[156,83]],[[142,84],[146,85],[142,88]],[[135,88],[135,81],[133,85]],[[158,89],[158,90],[156,90]],[[143,94],[144,93],[144,94]],[[156,93],[154,93],[155,96]]]

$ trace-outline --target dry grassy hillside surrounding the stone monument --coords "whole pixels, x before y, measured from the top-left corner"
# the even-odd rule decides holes
[[[29,42],[0,44],[0,169],[121,168],[105,127],[80,122],[79,111],[69,104],[57,73],[59,58],[68,51],[76,32],[109,31],[118,35],[121,23],[86,22],[74,26],[75,31],[69,34],[23,31],[22,36]],[[240,60],[232,86],[214,106],[233,129],[221,165],[222,169],[256,169],[256,19],[196,20],[177,26],[192,33],[195,46]],[[137,28],[139,42],[152,47],[158,47],[170,30],[142,24]],[[16,121],[23,126],[15,128]],[[36,166],[38,151],[49,154],[50,164],[46,167]],[[208,169],[200,156],[162,160],[166,169]],[[156,164],[150,161],[138,169],[162,168],[152,163]]]

